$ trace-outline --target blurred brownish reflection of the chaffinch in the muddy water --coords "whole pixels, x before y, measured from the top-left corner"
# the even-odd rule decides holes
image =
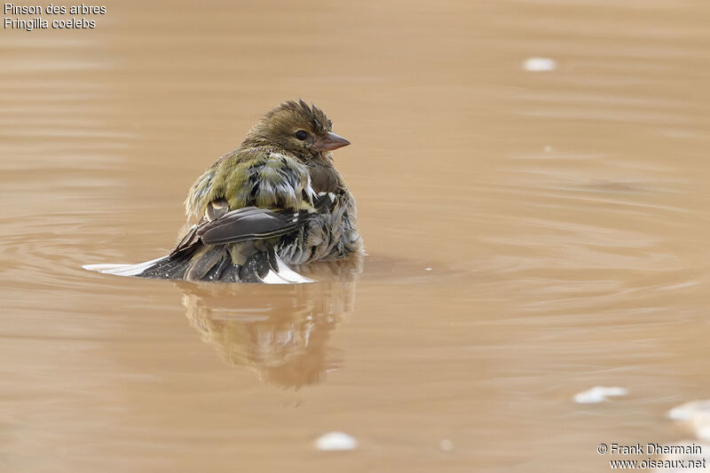
[[[354,308],[362,257],[299,268],[312,284],[179,282],[187,319],[232,366],[249,366],[267,384],[301,387],[336,367],[327,339]]]

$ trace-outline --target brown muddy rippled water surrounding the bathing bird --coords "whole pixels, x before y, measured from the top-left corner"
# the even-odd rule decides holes
[[[706,1],[104,5],[0,32],[0,470],[586,472],[701,440],[667,412],[710,397]],[[81,268],[164,254],[298,97],[352,141],[359,275]]]

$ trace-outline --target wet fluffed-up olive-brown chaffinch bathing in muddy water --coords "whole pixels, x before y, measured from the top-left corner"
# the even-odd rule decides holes
[[[357,204],[332,152],[350,141],[303,99],[272,108],[190,188],[189,225],[167,256],[84,268],[190,281],[312,282],[292,266],[363,253]]]

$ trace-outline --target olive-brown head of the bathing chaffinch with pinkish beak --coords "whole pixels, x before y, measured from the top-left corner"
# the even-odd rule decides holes
[[[288,100],[270,110],[248,131],[243,145],[279,146],[309,160],[325,156],[350,141],[331,131],[333,123],[317,106]]]

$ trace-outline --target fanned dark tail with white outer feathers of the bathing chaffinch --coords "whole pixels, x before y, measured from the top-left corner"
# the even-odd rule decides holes
[[[254,245],[201,246],[194,251],[174,251],[168,256],[138,264],[86,264],[84,269],[137,278],[207,280],[293,284],[314,282],[293,271],[273,248],[254,251]],[[251,248],[244,248],[251,247]],[[248,256],[243,257],[245,249]],[[243,264],[234,264],[240,258]]]

